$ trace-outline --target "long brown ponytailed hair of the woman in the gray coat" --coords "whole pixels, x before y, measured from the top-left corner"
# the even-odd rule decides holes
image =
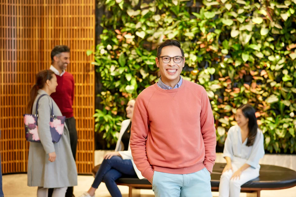
[[[39,73],[36,74],[36,83],[30,90],[30,97],[27,106],[27,111],[29,114],[32,113],[33,103],[37,97],[38,89],[42,89],[47,80],[51,80],[53,77],[54,72],[51,70],[41,70]]]

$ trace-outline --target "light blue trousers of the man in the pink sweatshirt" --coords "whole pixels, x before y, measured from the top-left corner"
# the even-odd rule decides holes
[[[211,176],[206,168],[191,174],[154,171],[152,190],[156,197],[213,197]]]

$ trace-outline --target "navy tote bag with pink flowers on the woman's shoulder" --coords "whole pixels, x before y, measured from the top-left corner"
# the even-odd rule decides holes
[[[24,123],[25,123],[25,132],[26,132],[26,140],[28,142],[40,142],[40,138],[38,136],[38,102],[41,97],[48,96],[47,94],[42,94],[36,104],[36,113],[35,114],[24,114]],[[59,142],[63,131],[64,131],[64,123],[66,116],[55,116],[53,114],[53,104],[50,113],[50,133],[52,136],[52,142]]]

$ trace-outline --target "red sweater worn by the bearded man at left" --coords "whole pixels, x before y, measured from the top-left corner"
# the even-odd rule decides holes
[[[56,75],[58,86],[56,92],[50,96],[60,108],[63,116],[66,118],[73,117],[73,100],[74,100],[74,78],[73,75],[65,72],[62,76]]]

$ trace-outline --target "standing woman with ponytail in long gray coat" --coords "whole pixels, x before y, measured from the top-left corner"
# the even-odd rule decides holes
[[[28,186],[38,187],[37,197],[47,197],[48,188],[54,188],[52,197],[65,197],[68,187],[77,185],[77,169],[71,152],[67,125],[64,124],[60,141],[52,142],[50,112],[62,116],[59,107],[50,97],[56,91],[56,75],[51,70],[42,70],[36,75],[36,84],[30,91],[28,112],[34,114],[38,102],[38,138],[30,142],[28,158]]]

